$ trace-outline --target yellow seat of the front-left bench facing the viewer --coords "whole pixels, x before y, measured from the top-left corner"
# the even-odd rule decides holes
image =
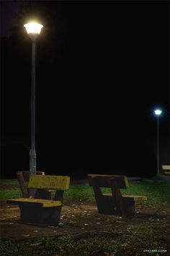
[[[45,199],[34,199],[34,198],[16,198],[16,199],[11,199],[7,200],[7,203],[11,205],[19,205],[27,202],[32,202],[35,204],[40,204],[42,205],[42,208],[46,207],[56,207],[56,206],[61,206],[62,202],[57,201],[57,200],[45,200]]]

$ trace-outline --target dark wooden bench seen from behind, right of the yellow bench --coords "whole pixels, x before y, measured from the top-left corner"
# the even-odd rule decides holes
[[[97,208],[101,214],[130,216],[135,213],[135,202],[147,200],[146,196],[122,195],[120,189],[127,189],[128,179],[121,175],[89,174],[89,184],[94,189]],[[102,194],[101,187],[109,187],[111,194]]]

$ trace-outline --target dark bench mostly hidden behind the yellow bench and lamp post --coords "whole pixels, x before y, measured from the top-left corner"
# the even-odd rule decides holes
[[[44,171],[37,171],[36,175],[45,175]],[[27,182],[30,179],[30,171],[17,171],[17,180],[19,182],[20,189],[22,191],[22,197],[29,197],[29,189]]]

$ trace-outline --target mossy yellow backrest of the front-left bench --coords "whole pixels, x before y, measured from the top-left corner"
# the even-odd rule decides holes
[[[32,189],[68,190],[69,176],[31,175],[28,184]]]

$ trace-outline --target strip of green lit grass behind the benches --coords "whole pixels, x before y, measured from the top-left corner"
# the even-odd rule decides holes
[[[17,184],[17,180],[4,180],[3,184]],[[129,182],[128,189],[121,189],[122,194],[128,195],[146,195],[148,201],[146,205],[162,205],[169,208],[170,202],[170,184],[158,183],[150,181]],[[103,192],[111,192],[110,189],[102,189]],[[20,189],[1,189],[0,199],[22,197]],[[64,193],[65,200],[82,200],[94,202],[94,191],[89,185],[72,185],[69,190]]]

